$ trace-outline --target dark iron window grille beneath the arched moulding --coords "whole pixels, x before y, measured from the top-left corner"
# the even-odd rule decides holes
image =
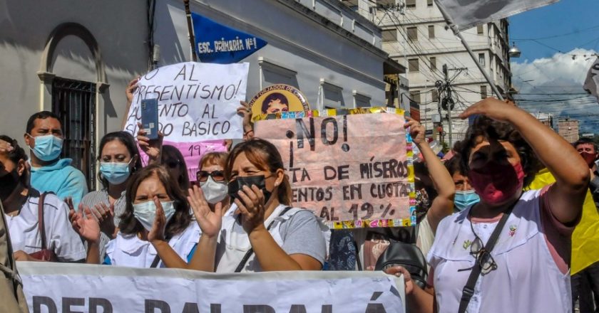
[[[96,84],[54,78],[52,112],[61,118],[64,144],[61,157],[83,172],[88,189],[96,188]]]

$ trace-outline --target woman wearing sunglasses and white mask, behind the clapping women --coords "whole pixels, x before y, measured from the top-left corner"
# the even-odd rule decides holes
[[[230,198],[227,194],[227,181],[225,180],[225,164],[227,162],[227,153],[209,152],[200,159],[200,164],[196,173],[198,185],[204,194],[210,210],[214,211],[215,205],[220,203],[222,213],[227,213],[230,205]]]

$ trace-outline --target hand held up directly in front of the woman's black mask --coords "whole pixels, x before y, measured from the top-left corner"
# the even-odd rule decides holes
[[[264,228],[265,198],[264,193],[255,185],[252,188],[243,186],[238,193],[235,204],[241,213],[241,224],[246,233]]]

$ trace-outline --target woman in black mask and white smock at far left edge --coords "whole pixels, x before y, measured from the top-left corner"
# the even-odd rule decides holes
[[[11,145],[0,150],[0,200],[15,260],[84,260],[83,243],[68,226],[66,203],[53,193],[31,188],[24,149],[11,137],[0,135],[0,140]]]

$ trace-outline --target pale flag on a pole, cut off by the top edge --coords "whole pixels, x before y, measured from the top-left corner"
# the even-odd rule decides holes
[[[559,0],[436,0],[460,31]]]

